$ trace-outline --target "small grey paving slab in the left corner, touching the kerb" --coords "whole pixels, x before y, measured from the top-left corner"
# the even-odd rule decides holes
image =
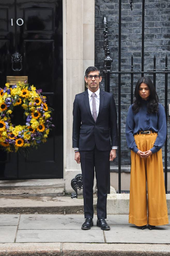
[[[0,227],[0,243],[14,243],[17,226]]]

